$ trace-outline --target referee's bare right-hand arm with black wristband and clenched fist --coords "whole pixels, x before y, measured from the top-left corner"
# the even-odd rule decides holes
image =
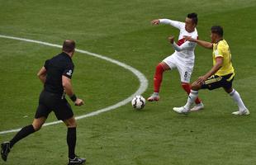
[[[83,105],[83,100],[77,98],[75,96],[75,94],[73,93],[73,87],[72,87],[71,79],[66,77],[66,76],[62,76],[62,85],[64,87],[64,91],[70,97],[70,99],[74,102],[74,104],[76,106],[82,106]]]

